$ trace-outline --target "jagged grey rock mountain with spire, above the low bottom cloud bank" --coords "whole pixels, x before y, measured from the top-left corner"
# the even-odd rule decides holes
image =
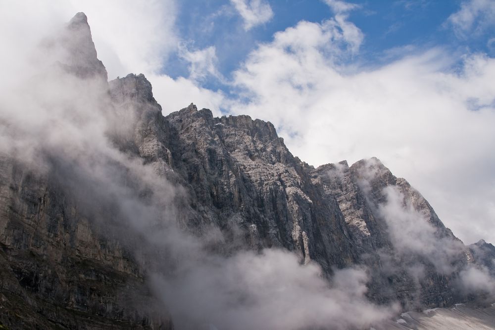
[[[0,329],[198,329],[180,306],[204,292],[156,278],[243,251],[290,251],[329,285],[359,268],[366,301],[395,310],[491,297],[494,246],[465,246],[377,158],[315,168],[270,122],[163,116],[144,75],[107,83],[83,13],[42,46],[58,59],[25,88],[46,124],[0,117]]]

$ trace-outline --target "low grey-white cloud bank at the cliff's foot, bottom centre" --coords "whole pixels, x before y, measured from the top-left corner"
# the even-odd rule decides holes
[[[238,330],[369,328],[396,308],[367,301],[366,281],[364,270],[345,269],[329,284],[318,266],[277,249],[202,256],[173,278],[153,279],[178,328]]]

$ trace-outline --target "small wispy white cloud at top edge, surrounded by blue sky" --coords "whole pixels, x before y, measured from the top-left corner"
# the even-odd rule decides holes
[[[244,20],[246,31],[269,22],[273,17],[272,7],[264,0],[230,0]]]

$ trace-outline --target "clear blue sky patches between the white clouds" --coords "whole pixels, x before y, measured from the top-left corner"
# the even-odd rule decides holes
[[[230,80],[247,55],[259,43],[268,43],[273,35],[299,21],[323,22],[335,12],[324,1],[272,0],[267,1],[272,18],[245,30],[240,14],[230,1],[184,0],[178,3],[176,29],[189,50],[214,46],[216,66],[223,77]],[[484,52],[495,54],[495,24],[465,35],[458,35],[448,22],[450,15],[461,8],[460,0],[380,0],[353,1],[358,7],[348,14],[348,20],[364,34],[360,51],[346,61],[360,67],[382,65],[394,58],[432,47],[461,54]],[[187,77],[189,62],[174,52],[167,56],[161,73],[178,78]],[[214,77],[201,82],[208,89],[231,92],[231,86]],[[235,93],[235,92],[234,92]]]

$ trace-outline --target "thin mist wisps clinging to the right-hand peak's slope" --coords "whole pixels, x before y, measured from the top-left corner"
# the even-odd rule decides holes
[[[403,179],[377,191],[372,184],[380,185],[387,173],[376,158],[365,160],[364,166],[358,168],[358,185],[374,210],[375,219],[386,224],[393,246],[393,250],[382,248],[377,251],[381,260],[380,276],[393,276],[406,270],[407,276],[414,281],[409,289],[416,288],[412,294],[417,299],[421,288],[430,285],[430,281],[441,274],[452,280],[455,299],[491,302],[495,295],[495,280],[490,272],[493,268],[490,246],[482,241],[480,244],[483,245],[468,248],[452,236],[436,222],[436,217],[432,218],[422,196],[404,185]],[[416,303],[420,304],[420,301]]]

